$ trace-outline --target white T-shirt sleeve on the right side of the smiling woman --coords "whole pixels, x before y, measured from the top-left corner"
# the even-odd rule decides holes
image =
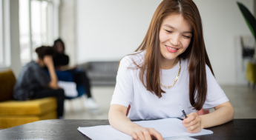
[[[210,68],[206,64],[206,79],[207,79],[207,95],[206,102],[203,104],[204,110],[209,110],[220,104],[229,101],[224,91],[221,89],[220,85],[217,83],[216,79],[211,73]]]

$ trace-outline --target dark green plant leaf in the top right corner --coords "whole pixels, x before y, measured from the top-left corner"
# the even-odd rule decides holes
[[[243,18],[246,20],[246,24],[249,27],[249,30],[251,30],[252,32],[252,36],[255,37],[255,41],[256,41],[256,19],[255,17],[252,15],[252,13],[240,2],[237,1],[237,5],[241,11],[241,13],[243,14]]]

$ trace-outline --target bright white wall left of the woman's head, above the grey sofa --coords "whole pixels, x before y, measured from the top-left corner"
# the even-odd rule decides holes
[[[77,61],[119,61],[142,42],[161,0],[77,0]]]

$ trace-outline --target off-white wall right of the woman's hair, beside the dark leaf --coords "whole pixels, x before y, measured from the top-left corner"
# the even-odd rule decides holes
[[[203,19],[206,50],[219,84],[237,84],[234,39],[251,35],[236,1],[194,0]],[[253,13],[253,0],[239,0]]]

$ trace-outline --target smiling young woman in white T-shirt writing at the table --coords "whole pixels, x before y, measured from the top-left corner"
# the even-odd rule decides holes
[[[231,121],[234,108],[214,79],[200,13],[192,0],[163,0],[136,53],[119,64],[108,119],[133,139],[163,139],[130,119],[183,119],[189,133]],[[128,117],[128,106],[131,105]],[[197,110],[213,113],[197,116]]]

